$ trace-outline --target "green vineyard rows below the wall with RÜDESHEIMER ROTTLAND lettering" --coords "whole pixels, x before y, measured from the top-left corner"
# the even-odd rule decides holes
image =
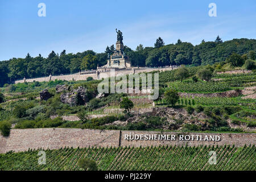
[[[256,170],[255,146],[62,148],[46,150],[46,165],[39,165],[38,152],[0,154],[2,170],[82,170],[77,162],[94,159],[100,170]],[[209,152],[216,164],[209,164]]]

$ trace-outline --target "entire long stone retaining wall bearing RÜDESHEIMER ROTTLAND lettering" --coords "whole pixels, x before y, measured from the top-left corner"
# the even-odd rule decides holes
[[[82,129],[13,129],[9,137],[0,136],[0,153],[7,151],[27,151],[28,148],[37,149],[57,149],[61,147],[118,147],[118,146],[199,146],[200,144],[222,146],[224,144],[235,145],[237,147],[246,144],[256,143],[256,134],[205,134],[205,133],[190,133],[189,135],[218,135],[219,142],[208,141],[185,141],[185,140],[126,140],[125,136],[129,134],[168,134],[176,135],[183,133],[160,133],[155,131],[120,131],[118,130],[82,130]],[[120,136],[121,134],[121,136]],[[183,134],[183,135],[187,135]]]

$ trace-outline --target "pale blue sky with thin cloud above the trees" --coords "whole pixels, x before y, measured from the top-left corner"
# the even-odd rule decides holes
[[[208,15],[212,2],[217,17]],[[46,17],[38,16],[39,3],[46,4]],[[116,42],[115,28],[132,49],[154,46],[159,36],[166,44],[181,39],[194,45],[217,35],[255,39],[256,1],[0,0],[0,60],[63,49],[104,52]]]

